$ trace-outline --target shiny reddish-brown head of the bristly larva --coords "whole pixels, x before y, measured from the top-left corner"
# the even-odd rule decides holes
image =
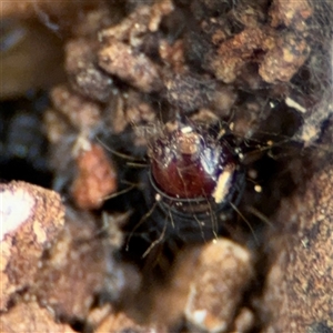
[[[151,178],[161,196],[216,204],[230,200],[240,165],[228,142],[216,137],[206,129],[184,125],[153,142]]]

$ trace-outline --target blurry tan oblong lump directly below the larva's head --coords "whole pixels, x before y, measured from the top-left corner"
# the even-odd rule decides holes
[[[252,276],[246,249],[226,239],[205,245],[190,289],[188,321],[208,332],[228,332]]]

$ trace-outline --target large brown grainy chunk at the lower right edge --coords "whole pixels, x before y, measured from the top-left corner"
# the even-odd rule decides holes
[[[265,332],[333,330],[333,169],[320,170],[284,201],[278,222],[284,234],[269,274],[265,309],[273,317]]]

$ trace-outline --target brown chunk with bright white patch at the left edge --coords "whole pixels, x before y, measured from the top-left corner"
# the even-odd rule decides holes
[[[34,283],[43,250],[64,223],[60,195],[24,182],[0,184],[1,297],[6,310],[10,295]]]

